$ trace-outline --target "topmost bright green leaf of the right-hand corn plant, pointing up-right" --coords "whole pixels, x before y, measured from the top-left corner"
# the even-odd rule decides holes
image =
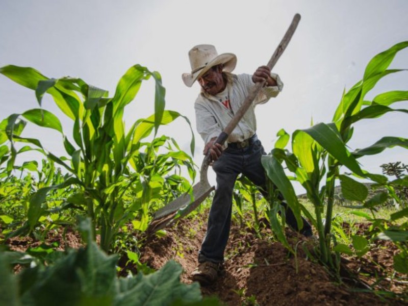
[[[374,75],[386,70],[394,59],[396,53],[406,48],[407,46],[408,41],[403,41],[393,45],[391,48],[373,57],[367,64],[366,70],[364,71],[364,80],[368,80]]]

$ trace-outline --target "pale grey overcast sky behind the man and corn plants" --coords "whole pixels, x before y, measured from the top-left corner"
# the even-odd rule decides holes
[[[1,0],[0,67],[29,66],[49,78],[69,75],[109,90],[134,64],[162,75],[166,109],[187,116],[196,138],[194,162],[202,162],[203,141],[195,129],[194,101],[198,84],[188,88],[181,75],[190,72],[188,50],[213,44],[219,54],[234,53],[235,73],[253,73],[265,65],[299,13],[298,28],[273,71],[284,83],[283,91],[256,109],[257,134],[266,151],[276,133],[292,134],[311,122],[330,122],[344,90],[362,79],[369,60],[392,45],[408,40],[408,1],[389,0]],[[390,68],[408,68],[408,49],[395,57]],[[408,71],[381,80],[367,94],[407,90]],[[1,119],[38,104],[33,91],[0,75]],[[50,98],[43,107],[63,122],[70,137],[72,122]],[[407,102],[394,108],[408,108]],[[126,108],[126,126],[154,112],[154,81],[148,80]],[[63,119],[64,118],[64,119]],[[179,118],[160,127],[159,135],[176,139],[189,151],[191,133]],[[61,135],[30,127],[23,136],[41,140],[54,154],[65,154]],[[354,127],[350,150],[373,144],[384,136],[408,138],[406,114],[389,113]],[[363,169],[381,173],[383,163],[408,164],[406,149],[387,149],[359,159]],[[31,160],[30,154],[20,160]],[[214,173],[209,172],[214,183]],[[297,191],[300,191],[296,187]]]

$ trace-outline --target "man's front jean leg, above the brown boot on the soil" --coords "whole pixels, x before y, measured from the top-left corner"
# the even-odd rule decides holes
[[[201,244],[198,261],[222,262],[230,236],[232,196],[239,174],[240,157],[226,152],[213,164],[217,188],[208,218],[207,233]]]

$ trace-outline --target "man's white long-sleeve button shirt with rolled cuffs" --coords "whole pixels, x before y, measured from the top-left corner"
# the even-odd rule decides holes
[[[255,117],[254,108],[258,104],[266,103],[271,97],[277,96],[284,86],[277,74],[271,73],[271,77],[276,80],[277,86],[264,87],[261,89],[252,105],[248,108],[240,122],[238,122],[234,131],[228,136],[227,142],[241,142],[256,133],[257,119]],[[216,97],[201,90],[201,93],[195,101],[194,109],[197,132],[201,135],[205,143],[208,143],[214,137],[218,137],[225,126],[230,123],[253,86],[252,75],[246,73],[227,73],[226,92],[230,99],[230,109],[225,106],[225,103],[222,104]]]

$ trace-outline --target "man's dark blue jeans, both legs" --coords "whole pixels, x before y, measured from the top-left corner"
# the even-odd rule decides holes
[[[245,148],[228,146],[214,162],[216,173],[216,190],[208,218],[207,233],[201,244],[198,261],[215,263],[224,260],[224,250],[230,236],[232,197],[235,181],[240,173],[245,175],[257,186],[266,185],[265,170],[261,164],[261,157],[265,150],[260,140],[255,140]],[[283,203],[286,205],[286,203]],[[295,231],[299,231],[292,210],[286,206],[286,222]],[[301,231],[311,232],[311,226],[304,218]]]

